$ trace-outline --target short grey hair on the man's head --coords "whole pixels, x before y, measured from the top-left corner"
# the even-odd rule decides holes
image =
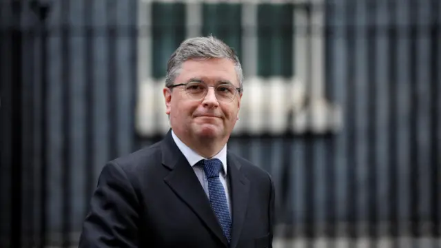
[[[242,65],[236,52],[229,45],[211,35],[208,37],[194,37],[183,41],[173,52],[167,63],[167,75],[165,76],[165,86],[170,87],[174,84],[179,74],[182,64],[189,59],[230,59],[236,69],[239,87],[242,90],[243,71]]]

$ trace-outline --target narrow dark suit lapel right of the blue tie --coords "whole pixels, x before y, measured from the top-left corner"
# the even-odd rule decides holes
[[[240,171],[240,163],[236,157],[228,152],[227,155],[228,174],[232,189],[233,228],[232,242],[230,248],[238,244],[240,232],[242,231],[245,214],[247,211],[249,180]]]

